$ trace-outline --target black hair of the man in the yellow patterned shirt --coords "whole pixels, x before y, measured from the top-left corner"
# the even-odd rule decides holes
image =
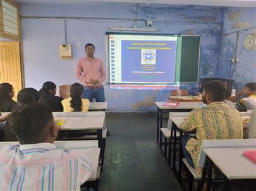
[[[204,90],[211,96],[212,102],[226,99],[228,85],[221,80],[211,80],[204,84]]]

